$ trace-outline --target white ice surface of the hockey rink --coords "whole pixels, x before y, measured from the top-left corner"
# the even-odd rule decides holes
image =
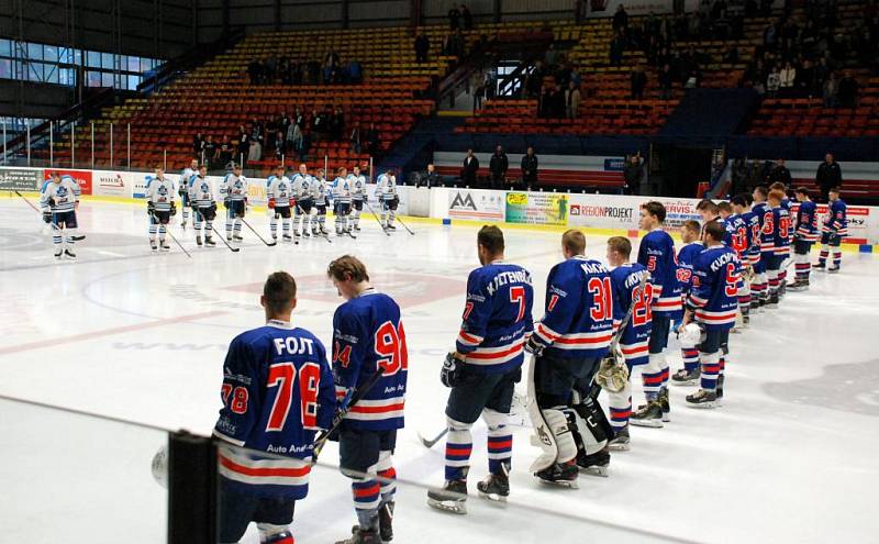
[[[266,247],[245,230],[242,251],[232,254],[222,245],[197,249],[175,221],[171,233],[192,252],[187,258],[176,246],[151,254],[145,206],[84,202],[79,219],[88,237],[77,245],[78,262],[56,263],[38,215],[20,199],[0,198],[0,395],[210,433],[225,348],[263,323],[266,275],[296,277],[294,324],[329,344],[342,300],[324,270],[349,253],[403,311],[410,374],[398,474],[421,486],[442,482],[443,443],[426,449],[416,433],[435,435],[445,424],[438,373],[454,345],[467,274],[478,265],[476,227],[412,222],[416,235],[387,237],[365,214],[358,240]],[[265,214],[248,221],[268,235]],[[507,260],[534,275],[539,318],[560,234],[505,236]],[[603,259],[604,240],[588,236],[588,255]],[[402,485],[394,542],[876,542],[877,278],[877,257],[845,253],[841,274],[813,274],[811,291],[788,293],[780,309],[754,317],[749,330],[731,336],[724,407],[688,409],[692,389],[672,387],[672,421],[633,428],[632,449],[613,454],[609,478],[581,476],[578,490],[539,485],[527,473],[539,452],[528,445],[530,430],[516,428],[508,507],[472,497],[468,517],[452,517],[427,508],[423,488]],[[669,347],[674,371],[674,338]],[[164,542],[166,499],[149,474],[160,432],[9,402],[0,411],[4,542]],[[471,493],[488,470],[485,436],[477,423]],[[334,444],[321,460],[336,463]],[[354,522],[347,480],[332,466],[315,469],[311,495],[297,508],[298,542],[334,542]],[[257,542],[255,532],[243,542]]]

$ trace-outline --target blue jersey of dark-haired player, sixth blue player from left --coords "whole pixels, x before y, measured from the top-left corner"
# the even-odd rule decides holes
[[[661,229],[648,232],[638,246],[638,264],[650,273],[654,286],[653,311],[663,315],[681,310],[681,287],[675,263],[675,241]]]

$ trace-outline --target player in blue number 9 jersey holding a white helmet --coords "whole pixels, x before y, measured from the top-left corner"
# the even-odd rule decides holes
[[[730,330],[735,325],[741,273],[738,257],[723,243],[725,235],[726,230],[721,224],[711,222],[703,227],[705,248],[693,262],[692,287],[680,327],[696,321],[705,331],[699,344],[701,387],[687,396],[691,407],[714,408],[722,397],[722,389],[719,389],[721,346],[727,343]]]

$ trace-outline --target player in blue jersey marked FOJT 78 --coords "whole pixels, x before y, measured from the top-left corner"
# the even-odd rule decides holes
[[[229,346],[213,431],[221,441],[220,542],[238,542],[255,522],[259,542],[293,544],[289,525],[308,495],[314,435],[333,421],[324,346],[291,323],[296,289],[289,274],[271,274],[259,299],[266,324]]]

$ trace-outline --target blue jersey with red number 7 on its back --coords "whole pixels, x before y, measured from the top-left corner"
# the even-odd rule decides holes
[[[489,374],[521,365],[533,303],[531,273],[523,267],[496,262],[472,270],[458,343],[477,347],[466,354],[466,363]]]

